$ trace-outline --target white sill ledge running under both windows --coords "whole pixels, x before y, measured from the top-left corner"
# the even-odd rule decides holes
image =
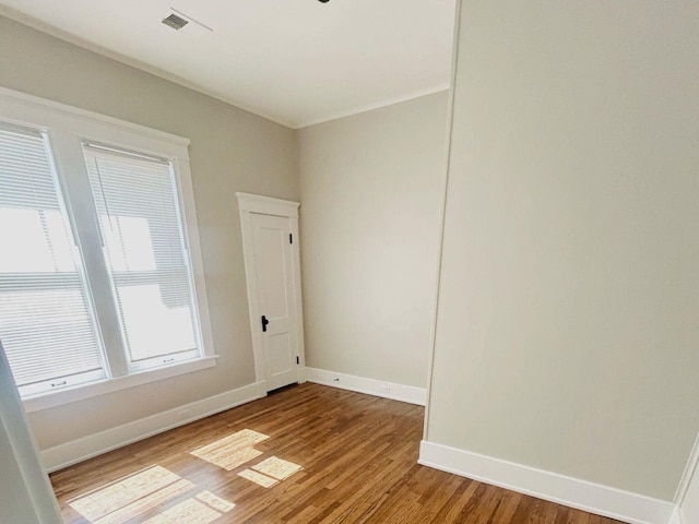
[[[43,395],[24,398],[24,409],[27,413],[40,412],[50,407],[70,404],[71,402],[83,401],[93,396],[104,395],[119,390],[126,390],[157,380],[169,379],[180,374],[191,373],[201,369],[216,366],[218,356],[199,358],[187,362],[175,364],[166,368],[158,368],[140,373],[116,377],[112,379],[92,382],[62,391],[55,391]]]

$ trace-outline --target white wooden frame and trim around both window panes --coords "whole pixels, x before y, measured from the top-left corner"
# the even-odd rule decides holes
[[[189,166],[188,146],[190,141],[170,133],[4,87],[0,87],[0,121],[35,129],[48,135],[52,154],[50,162],[56,167],[64,207],[73,237],[83,258],[83,264],[86,266],[92,264],[92,269],[86,270],[88,272],[105,272],[106,263],[102,250],[93,249],[94,246],[102,243],[96,223],[95,204],[92,200],[88,202],[86,198],[92,199],[92,194],[90,192],[85,194],[85,191],[81,190],[82,184],[90,183],[83,155],[83,143],[109,144],[126,151],[166,158],[171,163],[177,186],[185,248],[189,254],[194,291],[192,297],[194,314],[199,320],[198,327],[202,349],[201,356],[193,360],[174,362],[169,366],[143,371],[129,369],[121,346],[120,326],[116,322],[117,317],[114,311],[109,311],[109,309],[115,309],[111,294],[99,289],[102,281],[109,282],[109,279],[99,277],[97,282],[87,281],[87,293],[95,308],[94,314],[97,317],[98,335],[103,340],[109,377],[105,380],[24,398],[25,409],[27,412],[46,409],[215,366],[217,355],[214,353]],[[76,223],[81,224],[79,228],[75,227]]]

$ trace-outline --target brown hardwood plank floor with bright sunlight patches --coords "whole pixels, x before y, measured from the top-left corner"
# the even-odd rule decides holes
[[[417,465],[423,415],[307,383],[51,481],[70,524],[616,522]]]

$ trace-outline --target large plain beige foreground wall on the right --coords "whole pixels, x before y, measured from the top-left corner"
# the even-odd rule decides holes
[[[429,441],[672,500],[699,429],[698,16],[463,1]]]

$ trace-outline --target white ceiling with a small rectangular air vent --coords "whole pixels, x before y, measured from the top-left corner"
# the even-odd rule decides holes
[[[0,0],[0,7],[292,128],[449,84],[455,0]],[[213,32],[165,26],[170,8]]]

